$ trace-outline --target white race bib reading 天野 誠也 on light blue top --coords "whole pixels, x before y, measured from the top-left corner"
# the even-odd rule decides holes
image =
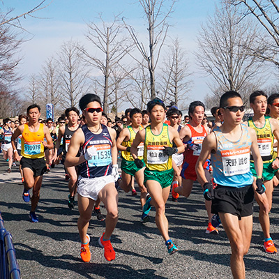
[[[221,151],[223,172],[225,176],[246,174],[250,170],[250,148],[242,147]]]

